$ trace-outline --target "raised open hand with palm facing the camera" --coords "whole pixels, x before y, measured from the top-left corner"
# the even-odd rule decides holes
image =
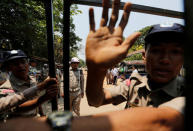
[[[103,0],[103,13],[100,28],[95,30],[94,10],[89,9],[90,32],[86,42],[86,62],[88,68],[107,70],[119,63],[127,55],[128,49],[140,36],[139,32],[133,33],[123,41],[123,31],[128,22],[131,3],[126,3],[122,19],[115,28],[119,15],[120,0],[114,0],[112,15],[108,22],[109,0]]]

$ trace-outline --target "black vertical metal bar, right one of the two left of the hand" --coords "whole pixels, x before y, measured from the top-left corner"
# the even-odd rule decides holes
[[[64,78],[64,110],[70,110],[69,96],[69,50],[70,50],[70,2],[64,0],[63,13],[63,78]]]

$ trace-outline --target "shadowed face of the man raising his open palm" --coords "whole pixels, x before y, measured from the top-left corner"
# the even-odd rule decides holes
[[[151,80],[156,83],[167,83],[175,78],[184,63],[183,53],[183,48],[177,43],[149,45],[145,61]]]

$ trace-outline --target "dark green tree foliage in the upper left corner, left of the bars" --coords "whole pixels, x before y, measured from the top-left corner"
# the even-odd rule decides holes
[[[31,0],[0,1],[0,44],[2,48],[30,52],[45,43],[43,4]],[[2,46],[3,44],[6,46]]]

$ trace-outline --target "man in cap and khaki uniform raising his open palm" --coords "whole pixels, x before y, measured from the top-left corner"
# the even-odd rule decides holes
[[[114,8],[114,10],[117,9]],[[103,11],[104,14],[107,12],[108,10]],[[130,82],[126,80],[120,86],[103,89],[107,69],[126,57],[128,49],[140,33],[136,32],[122,41],[122,31],[126,25],[123,21],[128,17],[127,11],[123,14],[123,20],[117,28],[114,28],[116,21],[112,19],[109,26],[106,26],[105,17],[101,20],[100,29],[96,31],[92,21],[93,14],[90,13],[91,31],[87,37],[86,46],[88,66],[86,93],[90,105],[98,107],[127,101],[126,108],[158,107],[183,95],[183,78],[178,77],[184,62],[185,40],[182,25],[177,23],[153,25],[145,38],[143,56],[148,75],[143,77],[138,73],[133,73]]]

